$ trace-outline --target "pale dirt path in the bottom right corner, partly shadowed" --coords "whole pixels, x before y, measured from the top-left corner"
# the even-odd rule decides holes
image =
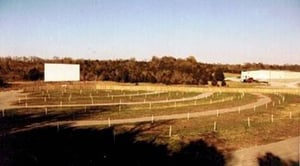
[[[267,152],[280,157],[284,161],[300,159],[300,136],[267,145],[254,146],[240,149],[232,153],[233,160],[228,166],[258,166],[257,157],[264,156]]]

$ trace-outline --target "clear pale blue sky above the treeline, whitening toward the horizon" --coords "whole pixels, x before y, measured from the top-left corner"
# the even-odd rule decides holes
[[[0,56],[300,64],[299,0],[0,0]]]

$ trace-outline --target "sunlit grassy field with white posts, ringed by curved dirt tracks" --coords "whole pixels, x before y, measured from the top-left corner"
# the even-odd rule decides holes
[[[99,87],[99,85],[101,85]],[[253,87],[252,87],[253,86]],[[172,102],[173,99],[195,97],[213,92],[206,98]],[[0,119],[1,130],[16,130],[36,123],[66,120],[126,119],[145,116],[200,112],[252,103],[257,97],[252,92],[261,92],[271,97],[272,103],[240,113],[220,116],[171,120],[166,122],[117,125],[116,132],[135,127],[147,128],[137,139],[167,143],[173,151],[182,141],[205,139],[224,151],[250,147],[283,140],[299,135],[300,98],[299,89],[263,89],[234,85],[234,87],[212,88],[197,86],[165,86],[119,83],[80,83],[74,85],[40,84],[24,88],[26,98],[15,105],[83,104],[65,108],[21,108],[7,110]],[[288,93],[286,93],[288,92]],[[298,94],[297,94],[298,93]],[[156,101],[170,101],[155,103]],[[126,102],[141,104],[122,105]],[[143,102],[145,102],[143,104]],[[153,103],[151,103],[153,102]],[[114,106],[84,106],[91,103],[116,103]],[[150,106],[151,105],[151,106]],[[248,121],[249,119],[249,121]],[[172,128],[171,137],[170,126]],[[105,128],[107,126],[97,126]]]

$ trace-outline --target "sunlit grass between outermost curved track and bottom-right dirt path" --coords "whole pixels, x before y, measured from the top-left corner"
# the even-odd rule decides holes
[[[270,95],[272,99],[279,97]],[[208,142],[216,144],[218,148],[231,151],[234,149],[250,147],[280,141],[299,135],[300,105],[299,97],[285,95],[286,101],[275,104],[273,107],[258,107],[238,112],[221,114],[219,117],[208,116],[193,118],[190,120],[172,120],[159,125],[151,131],[141,134],[139,139],[152,139],[155,137],[159,143],[168,143],[171,148],[178,148],[182,140],[208,139]],[[295,104],[296,102],[296,104]],[[290,119],[290,112],[292,118]],[[273,123],[271,116],[273,115]],[[250,127],[248,127],[248,117]],[[214,122],[217,123],[217,131],[214,132]],[[150,125],[150,124],[142,124]],[[168,137],[169,126],[172,126],[172,137]],[[126,126],[128,127],[128,126]],[[214,138],[207,138],[213,135]]]

